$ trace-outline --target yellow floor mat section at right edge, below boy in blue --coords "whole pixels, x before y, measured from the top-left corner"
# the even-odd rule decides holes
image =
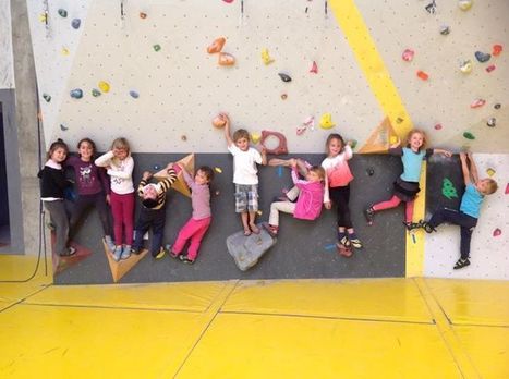
[[[509,281],[425,279],[455,325],[509,327]]]

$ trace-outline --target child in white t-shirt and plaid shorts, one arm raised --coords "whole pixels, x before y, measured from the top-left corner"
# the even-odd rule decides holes
[[[233,183],[235,184],[235,211],[241,213],[244,235],[251,232],[258,234],[255,217],[258,211],[258,164],[267,164],[265,148],[262,154],[250,147],[250,133],[240,129],[230,137],[230,119],[221,113],[225,120],[225,138],[228,144],[228,150],[233,156]]]

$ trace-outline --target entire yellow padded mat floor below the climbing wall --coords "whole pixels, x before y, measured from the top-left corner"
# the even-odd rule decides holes
[[[0,256],[0,280],[33,267]],[[502,281],[56,286],[39,274],[0,283],[0,377],[508,378],[508,295]]]

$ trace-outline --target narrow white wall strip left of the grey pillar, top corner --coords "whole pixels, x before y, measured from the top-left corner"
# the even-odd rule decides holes
[[[0,89],[14,88],[12,61],[11,4],[0,1]]]

